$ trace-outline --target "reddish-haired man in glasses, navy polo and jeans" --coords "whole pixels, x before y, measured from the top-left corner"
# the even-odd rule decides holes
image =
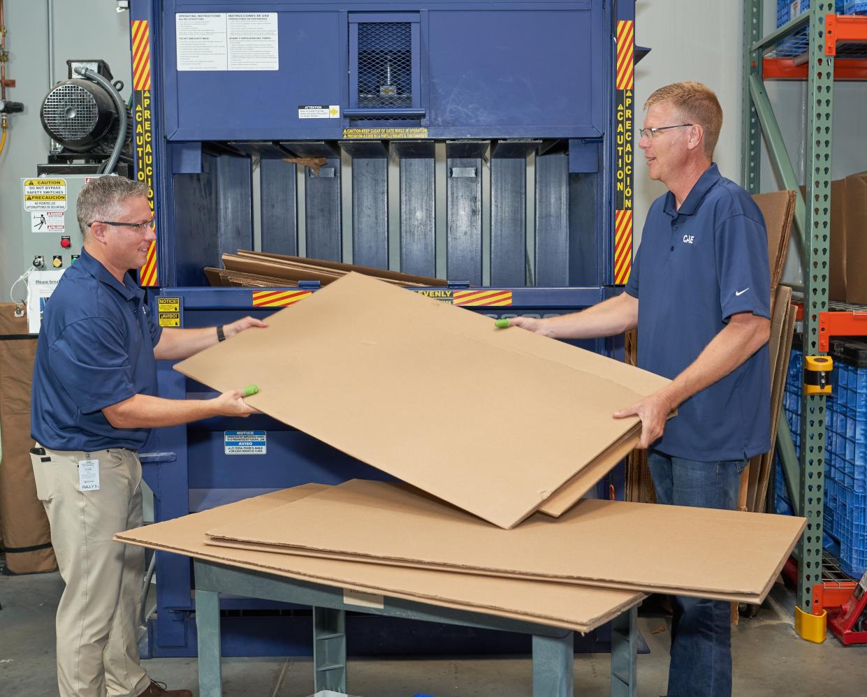
[[[672,382],[614,416],[642,420],[657,501],[734,509],[740,472],[771,446],[765,221],[714,164],[722,109],[709,88],[677,82],[645,109],[638,145],[668,192],[650,206],[626,291],[572,315],[510,322],[564,339],[637,327],[638,366]],[[673,605],[668,697],[729,697],[729,603]]]

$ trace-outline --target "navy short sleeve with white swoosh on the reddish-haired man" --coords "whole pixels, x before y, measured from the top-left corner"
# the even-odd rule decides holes
[[[744,215],[723,221],[715,231],[720,309],[728,320],[739,312],[771,317],[771,269],[764,223]]]

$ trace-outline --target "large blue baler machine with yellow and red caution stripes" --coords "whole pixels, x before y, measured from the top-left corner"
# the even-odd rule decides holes
[[[238,249],[507,290],[506,306],[469,308],[498,317],[583,309],[625,280],[634,0],[133,0],[131,13],[135,170],[158,223],[140,282],[164,326],[274,311],[255,290],[207,287],[203,269]],[[460,287],[431,290],[456,302]],[[212,393],[163,365],[160,394]],[[159,429],[143,453],[158,520],[305,482],[387,479],[264,415]],[[597,495],[610,492],[622,472]],[[157,578],[149,653],[193,655],[191,564],[158,553]],[[225,655],[310,653],[308,610],[222,609]],[[478,630],[348,623],[356,654],[528,650]],[[597,632],[580,648],[607,642]]]

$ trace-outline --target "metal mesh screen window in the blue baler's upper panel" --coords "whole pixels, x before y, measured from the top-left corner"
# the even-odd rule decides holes
[[[358,106],[413,106],[412,24],[358,24]]]

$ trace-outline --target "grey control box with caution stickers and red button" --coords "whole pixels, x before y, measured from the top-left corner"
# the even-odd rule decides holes
[[[81,254],[78,192],[95,174],[21,179],[22,270],[63,270]]]

